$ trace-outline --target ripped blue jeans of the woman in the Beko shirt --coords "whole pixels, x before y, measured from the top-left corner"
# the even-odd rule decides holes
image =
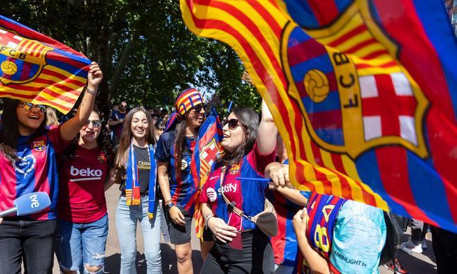
[[[108,215],[92,223],[72,223],[57,219],[55,254],[61,271],[90,273],[85,266],[102,266],[108,238]]]

